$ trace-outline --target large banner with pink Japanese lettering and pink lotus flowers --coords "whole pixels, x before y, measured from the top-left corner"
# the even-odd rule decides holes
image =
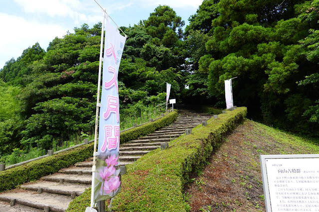
[[[113,26],[109,17],[105,23],[102,94],[99,112],[99,155],[96,159],[94,202],[114,197],[121,188],[119,145],[120,114],[118,69],[126,37]],[[93,189],[93,188],[92,188]]]

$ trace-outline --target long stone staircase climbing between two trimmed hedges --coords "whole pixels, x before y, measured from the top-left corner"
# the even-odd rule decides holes
[[[176,121],[147,136],[120,146],[121,165],[133,163],[142,155],[161,146],[208,120],[211,116],[182,112]],[[92,158],[61,169],[41,180],[26,183],[20,188],[0,194],[0,212],[64,212],[76,196],[91,186]],[[11,206],[10,206],[11,205]]]

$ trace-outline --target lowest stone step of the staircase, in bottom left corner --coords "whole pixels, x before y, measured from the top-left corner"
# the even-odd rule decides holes
[[[72,198],[67,195],[50,194],[46,192],[37,194],[37,192],[33,191],[16,189],[0,194],[0,200],[5,202],[15,200],[15,204],[19,205],[26,205],[41,210],[45,210],[45,208],[49,207],[50,212],[64,212],[72,201]]]

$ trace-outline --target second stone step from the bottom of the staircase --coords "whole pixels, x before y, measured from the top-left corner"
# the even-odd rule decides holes
[[[62,194],[62,195],[73,195],[80,196],[83,194],[85,189],[88,189],[90,185],[87,184],[78,184],[78,183],[57,183],[50,181],[36,181],[27,184],[21,185],[21,188],[36,191],[38,192],[39,188],[42,189],[42,192],[53,193],[53,194]],[[74,196],[73,196],[74,197]]]

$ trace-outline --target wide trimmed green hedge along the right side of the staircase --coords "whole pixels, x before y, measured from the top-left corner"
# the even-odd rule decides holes
[[[169,143],[169,149],[156,149],[135,163],[127,165],[122,176],[122,191],[113,198],[112,211],[183,212],[183,186],[191,172],[205,165],[212,151],[220,146],[227,132],[241,123],[246,107],[227,110],[208,125],[199,125],[193,134],[182,135]],[[90,204],[90,190],[74,199],[68,212],[85,211]]]

